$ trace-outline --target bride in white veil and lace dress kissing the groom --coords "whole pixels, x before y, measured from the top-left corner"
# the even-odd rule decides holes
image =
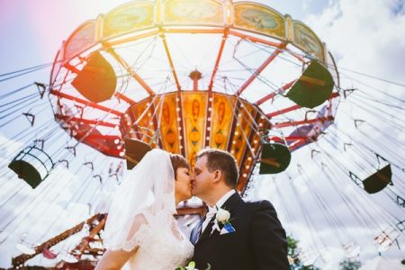
[[[153,149],[125,176],[112,196],[96,270],[175,269],[193,257],[173,216],[192,196],[189,170],[184,157]]]

